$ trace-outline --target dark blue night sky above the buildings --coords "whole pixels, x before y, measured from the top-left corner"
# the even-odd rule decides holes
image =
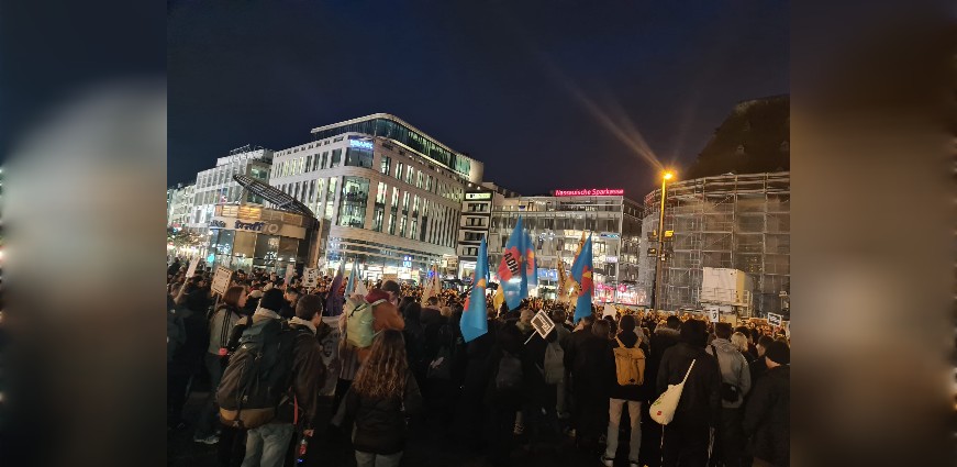
[[[656,182],[735,103],[789,90],[788,2],[169,3],[169,184],[375,112],[521,192]],[[642,143],[642,140],[646,143]],[[679,175],[680,177],[680,175]]]

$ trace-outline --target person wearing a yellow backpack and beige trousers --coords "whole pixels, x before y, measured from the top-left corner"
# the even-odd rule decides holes
[[[638,454],[642,447],[642,401],[647,399],[645,381],[645,358],[648,346],[641,342],[635,333],[635,316],[626,314],[620,323],[621,332],[611,343],[605,368],[611,382],[609,383],[609,423],[605,435],[605,451],[601,462],[605,466],[614,464],[619,447],[622,409],[627,405],[631,420],[628,440],[628,465],[639,466]]]

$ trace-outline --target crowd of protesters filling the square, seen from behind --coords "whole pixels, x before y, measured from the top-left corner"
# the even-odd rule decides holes
[[[303,289],[275,273],[240,270],[214,297],[211,271],[185,271],[178,262],[167,271],[168,429],[218,445],[222,466],[397,466],[415,427],[492,466],[510,465],[516,449],[565,443],[592,453],[590,465],[789,465],[790,340],[766,323],[602,316],[602,308],[574,322],[560,302],[531,299],[508,310],[490,296],[488,333],[466,343],[465,293],[423,300],[422,287],[379,281],[365,297],[383,303],[375,308],[376,337],[359,352],[337,337],[345,320],[327,304],[345,285],[331,291],[334,278]],[[544,338],[531,324],[541,310],[556,323]],[[268,424],[240,430],[219,421],[215,392],[243,324],[256,320],[298,330],[294,397]],[[639,385],[620,385],[617,347],[645,356]],[[685,379],[692,360],[674,421],[657,424],[649,404]],[[203,374],[210,396],[197,420],[185,420],[191,382]]]

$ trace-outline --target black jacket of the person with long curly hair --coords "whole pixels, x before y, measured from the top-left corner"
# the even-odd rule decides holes
[[[353,446],[363,453],[388,455],[404,451],[408,437],[405,418],[421,412],[422,394],[412,371],[405,373],[405,389],[401,398],[370,398],[353,389],[345,396],[346,420],[355,423]]]

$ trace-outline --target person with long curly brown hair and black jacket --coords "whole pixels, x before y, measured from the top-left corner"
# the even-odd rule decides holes
[[[408,438],[407,418],[422,411],[401,331],[387,329],[376,337],[343,403],[346,426],[355,425],[356,465],[398,466]]]

